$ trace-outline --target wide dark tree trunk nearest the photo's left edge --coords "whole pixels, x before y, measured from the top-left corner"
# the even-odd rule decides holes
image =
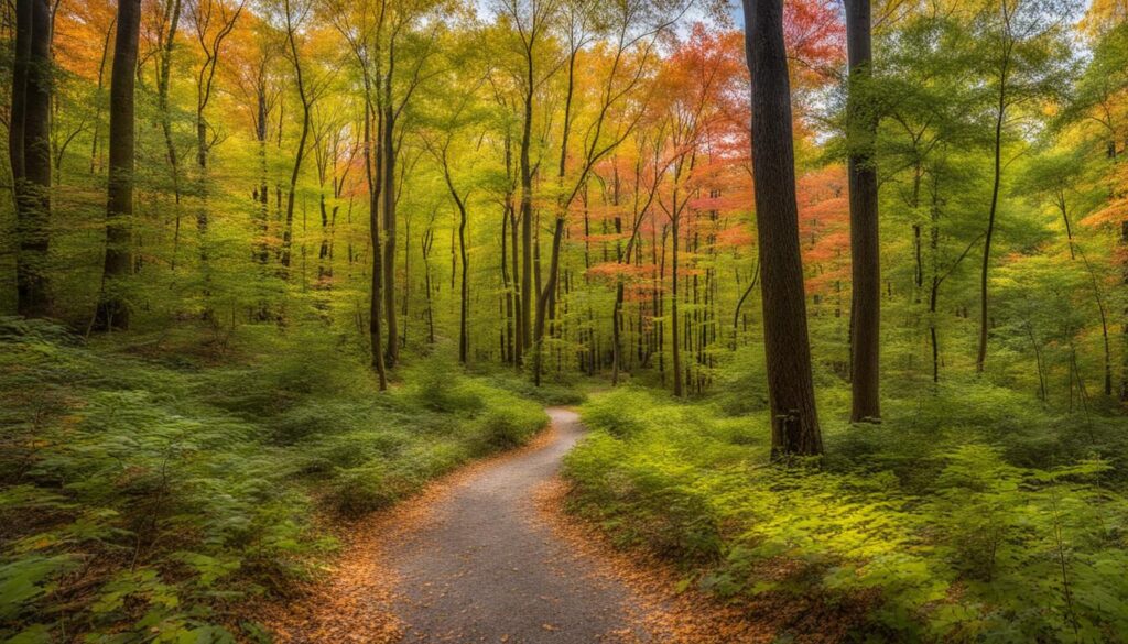
[[[51,221],[51,8],[47,0],[29,1],[32,33],[24,81],[23,176],[17,179],[23,185],[16,189],[19,222],[16,261],[18,310],[33,317],[44,315],[50,306],[46,264]],[[14,175],[15,168],[14,165]]]

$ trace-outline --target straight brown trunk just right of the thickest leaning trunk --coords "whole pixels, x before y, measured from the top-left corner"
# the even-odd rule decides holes
[[[846,0],[849,58],[849,221],[851,221],[851,422],[881,417],[881,248],[878,245],[878,170],[873,143],[878,117],[867,96],[872,74],[870,0]],[[861,95],[861,96],[860,96]]]

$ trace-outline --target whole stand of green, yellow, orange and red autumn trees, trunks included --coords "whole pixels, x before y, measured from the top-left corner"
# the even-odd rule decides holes
[[[1128,32],[1104,5],[1072,32],[1065,0],[881,15],[865,0],[845,14],[756,0],[770,48],[746,51],[707,20],[670,28],[676,0],[499,0],[484,14],[162,0],[132,53],[130,2],[60,5],[51,48],[35,37],[50,35],[42,1],[15,8],[6,283],[25,315],[194,320],[215,346],[240,325],[316,319],[370,352],[382,386],[400,352],[449,337],[466,363],[534,382],[608,371],[700,396],[737,368],[763,380],[750,347],[764,342],[779,453],[817,451],[812,373],[852,389],[853,421],[875,420],[881,388],[987,371],[993,341],[1007,351],[985,386],[1050,404],[1056,379],[1076,394],[1092,372],[1091,390],[1128,396]],[[1074,35],[1092,47],[1079,77]],[[763,145],[749,141],[751,81],[774,115],[757,117]],[[184,208],[197,233],[180,235]],[[1056,266],[1076,292],[1015,289],[1012,265],[1039,280]],[[1068,298],[1068,320],[1021,293]]]

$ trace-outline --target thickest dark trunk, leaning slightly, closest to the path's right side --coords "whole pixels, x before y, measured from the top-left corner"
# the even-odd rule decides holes
[[[743,0],[743,9],[772,453],[818,455],[822,435],[807,335],[783,2]]]

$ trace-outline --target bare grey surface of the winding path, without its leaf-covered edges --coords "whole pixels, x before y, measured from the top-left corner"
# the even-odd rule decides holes
[[[548,414],[547,443],[475,471],[435,501],[411,539],[388,548],[405,643],[647,639],[628,626],[629,591],[594,577],[592,562],[537,521],[534,491],[583,434],[574,412]]]

